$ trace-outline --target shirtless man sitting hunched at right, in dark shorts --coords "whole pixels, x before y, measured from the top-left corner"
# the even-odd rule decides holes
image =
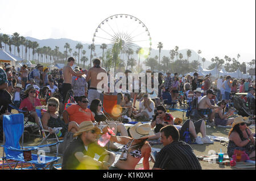
[[[218,108],[218,106],[213,106],[212,103],[210,103],[210,99],[212,99],[212,96],[213,91],[209,89],[207,91],[207,95],[203,96],[198,104],[199,113],[201,113],[202,115],[209,115],[210,122],[213,122],[215,113],[214,109]]]

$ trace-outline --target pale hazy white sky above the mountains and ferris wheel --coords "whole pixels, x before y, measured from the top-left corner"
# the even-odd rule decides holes
[[[163,49],[201,50],[201,57],[255,59],[255,0],[0,0],[0,32],[36,39],[92,42],[102,20],[129,14],[142,20]]]

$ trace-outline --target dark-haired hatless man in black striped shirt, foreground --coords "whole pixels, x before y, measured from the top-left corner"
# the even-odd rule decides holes
[[[190,145],[179,141],[179,131],[174,125],[160,129],[164,148],[156,155],[154,170],[201,170],[201,165]]]

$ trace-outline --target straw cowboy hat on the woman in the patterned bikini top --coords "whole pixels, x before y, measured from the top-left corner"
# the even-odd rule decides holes
[[[135,124],[133,127],[131,127],[129,131],[130,131],[131,137],[133,137],[135,140],[148,138],[155,135],[149,123],[142,124],[141,122],[139,122]]]

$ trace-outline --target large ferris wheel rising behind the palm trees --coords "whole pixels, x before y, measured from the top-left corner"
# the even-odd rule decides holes
[[[93,34],[93,45],[95,49],[100,50],[102,44],[106,44],[106,49],[112,49],[115,43],[122,43],[120,58],[125,60],[127,58],[127,51],[129,49],[135,51],[141,48],[141,55],[145,59],[150,54],[151,50],[151,36],[146,25],[132,15],[116,14],[104,19],[96,28]],[[102,47],[101,47],[102,48]],[[96,54],[93,50],[94,56],[101,56],[102,51]]]

